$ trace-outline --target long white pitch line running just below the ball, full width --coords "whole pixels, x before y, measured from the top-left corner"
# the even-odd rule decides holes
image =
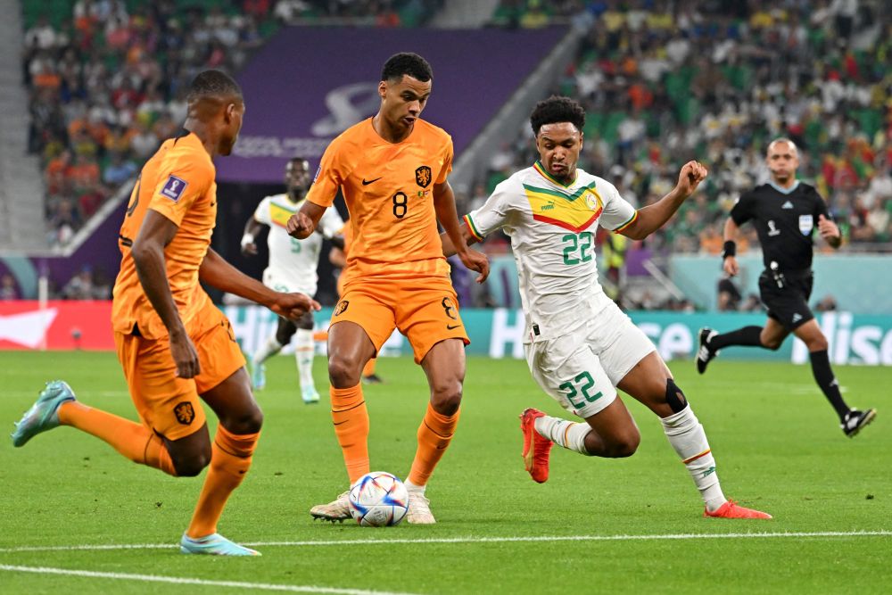
[[[355,540],[316,540],[316,541],[252,541],[244,545],[252,548],[295,547],[295,546],[349,546],[349,545],[388,545],[393,543],[425,545],[429,543],[506,543],[541,541],[672,541],[707,539],[784,539],[808,537],[892,537],[892,530],[877,531],[814,531],[798,533],[669,533],[651,535],[525,535],[516,537],[433,537],[427,539],[355,539]],[[178,548],[171,543],[110,543],[96,545],[56,545],[21,546],[0,548],[0,553],[21,551],[71,551],[71,550],[169,550]]]

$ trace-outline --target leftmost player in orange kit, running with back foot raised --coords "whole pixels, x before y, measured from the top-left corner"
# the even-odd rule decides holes
[[[14,446],[56,426],[108,442],[136,463],[178,477],[208,467],[192,522],[180,541],[190,554],[251,556],[217,533],[229,494],[251,467],[263,414],[254,401],[229,321],[199,280],[299,318],[318,303],[277,293],[210,249],[217,218],[211,159],[232,152],[242,128],[242,90],[205,70],[192,82],[184,129],[165,141],[140,174],[120,227],[121,265],[112,326],[141,424],[87,407],[62,381],[47,384],[17,424]],[[201,399],[219,418],[211,442]]]

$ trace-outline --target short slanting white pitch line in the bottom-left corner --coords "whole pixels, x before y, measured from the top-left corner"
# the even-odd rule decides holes
[[[0,570],[8,572],[32,574],[64,574],[66,576],[84,576],[87,578],[110,578],[119,581],[139,581],[143,583],[197,584],[211,587],[231,587],[235,589],[252,589],[255,591],[288,591],[293,593],[335,593],[335,595],[408,595],[390,591],[367,591],[365,589],[339,589],[337,587],[320,587],[318,585],[274,584],[274,583],[242,583],[238,581],[208,581],[186,576],[162,576],[159,574],[127,574],[104,573],[94,570],[74,570],[69,568],[49,568],[46,566],[10,566],[0,564]]]

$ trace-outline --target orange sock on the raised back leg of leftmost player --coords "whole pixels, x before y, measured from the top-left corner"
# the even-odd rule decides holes
[[[149,428],[102,409],[68,401],[59,407],[59,423],[76,427],[111,444],[114,450],[141,465],[177,475],[164,442]]]

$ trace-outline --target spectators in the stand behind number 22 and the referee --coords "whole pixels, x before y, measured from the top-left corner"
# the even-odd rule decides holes
[[[777,136],[800,149],[799,177],[819,189],[847,249],[892,244],[892,12],[870,0],[503,0],[496,24],[571,22],[579,54],[555,93],[588,119],[580,166],[644,206],[683,161],[710,169],[703,189],[655,236],[657,252],[722,250],[742,192],[764,183]],[[492,156],[473,208],[536,159],[532,132]],[[757,246],[751,226],[739,244]],[[819,241],[818,245],[822,245]]]

